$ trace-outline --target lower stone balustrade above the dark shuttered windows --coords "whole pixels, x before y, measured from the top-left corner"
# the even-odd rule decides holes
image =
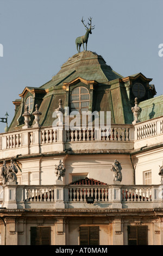
[[[3,186],[7,209],[160,208],[163,185],[15,185]],[[91,197],[94,202],[87,203]]]

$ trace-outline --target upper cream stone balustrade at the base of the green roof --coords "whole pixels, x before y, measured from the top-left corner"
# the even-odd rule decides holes
[[[149,138],[149,139],[148,139]],[[30,127],[0,135],[0,159],[16,155],[86,149],[137,149],[154,145],[163,139],[163,118],[136,123],[112,125],[110,129],[57,130],[52,126]],[[86,144],[83,144],[84,142]],[[108,143],[106,143],[108,142]],[[127,143],[126,143],[127,142]],[[91,144],[91,143],[97,143]],[[114,143],[114,145],[113,145]],[[115,145],[115,143],[117,143]],[[53,146],[55,145],[55,146]],[[55,150],[54,150],[55,148]]]

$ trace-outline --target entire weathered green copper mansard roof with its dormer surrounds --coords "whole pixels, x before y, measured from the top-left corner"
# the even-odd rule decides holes
[[[131,124],[135,95],[132,92],[134,83],[142,83],[145,95],[140,101],[153,98],[154,86],[150,86],[151,78],[141,73],[123,77],[107,65],[101,55],[96,52],[83,51],[74,54],[61,66],[57,75],[42,86],[26,87],[20,94],[21,99],[13,103],[16,107],[15,117],[9,131],[20,130],[24,125],[24,106],[28,97],[32,97],[33,105],[30,113],[38,105],[41,126],[52,126],[53,113],[58,108],[59,99],[62,107],[70,107],[70,96],[76,87],[85,87],[89,91],[89,111],[111,112],[111,124]],[[71,110],[71,109],[70,109]],[[148,117],[147,117],[148,118]],[[29,125],[33,126],[34,116]]]

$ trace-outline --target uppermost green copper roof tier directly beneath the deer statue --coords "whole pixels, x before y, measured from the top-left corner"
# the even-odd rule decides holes
[[[61,66],[61,70],[52,80],[43,84],[41,88],[48,89],[52,86],[59,86],[61,83],[69,83],[77,77],[85,80],[95,80],[98,83],[107,83],[108,81],[122,78],[108,66],[102,56],[95,52],[79,52],[69,58]]]

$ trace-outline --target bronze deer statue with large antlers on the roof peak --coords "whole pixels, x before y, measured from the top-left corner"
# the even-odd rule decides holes
[[[85,26],[83,18],[82,18],[81,21],[82,21],[82,23],[83,23],[83,25],[84,25],[84,27],[86,29],[86,33],[85,33],[85,35],[79,36],[76,39],[77,50],[78,50],[78,46],[79,46],[78,52],[80,52],[81,45],[83,45],[83,48],[84,48],[84,43],[86,45],[86,47],[84,48],[84,51],[87,51],[87,40],[89,38],[89,34],[92,34],[91,30],[95,28],[95,26],[91,25],[91,22],[92,22],[92,18],[91,17],[89,19],[90,23],[88,22],[88,25],[90,26],[89,28],[87,26]]]

